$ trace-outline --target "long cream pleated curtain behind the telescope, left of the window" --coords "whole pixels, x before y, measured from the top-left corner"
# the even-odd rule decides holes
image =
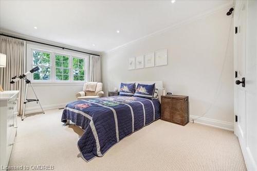
[[[0,68],[0,84],[4,90],[20,90],[18,115],[22,114],[25,83],[20,80],[10,84],[11,78],[25,73],[25,47],[23,40],[0,36],[0,53],[6,54],[6,68]]]

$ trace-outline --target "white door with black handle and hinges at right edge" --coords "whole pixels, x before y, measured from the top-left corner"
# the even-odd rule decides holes
[[[234,133],[247,169],[257,170],[257,1],[236,1],[234,26]]]

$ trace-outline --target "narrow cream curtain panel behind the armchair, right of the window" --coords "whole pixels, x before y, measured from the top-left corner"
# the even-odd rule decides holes
[[[101,71],[101,57],[90,55],[89,56],[89,79],[91,82],[101,82],[102,81],[102,71]]]

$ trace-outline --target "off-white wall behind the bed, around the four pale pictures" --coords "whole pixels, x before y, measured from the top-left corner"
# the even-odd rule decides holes
[[[217,94],[227,49],[217,100],[198,121],[233,130],[233,21],[226,12],[201,17],[104,53],[102,74],[105,93],[119,87],[122,81],[162,80],[167,91],[189,96],[191,118],[201,116]],[[128,70],[129,57],[160,49],[168,49],[167,66]]]

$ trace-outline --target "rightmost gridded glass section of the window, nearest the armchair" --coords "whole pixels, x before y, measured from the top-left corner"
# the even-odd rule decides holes
[[[84,59],[74,57],[72,61],[72,65],[73,65],[73,80],[84,81],[84,78],[85,78]]]

